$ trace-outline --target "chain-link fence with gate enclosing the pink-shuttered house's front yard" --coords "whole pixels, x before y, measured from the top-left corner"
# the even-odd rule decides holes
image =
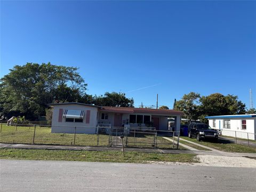
[[[178,142],[174,143],[174,135],[179,135],[179,132],[157,131],[154,127],[142,129],[141,127],[65,126],[69,129],[69,133],[53,133],[50,125],[1,123],[0,126],[0,142],[2,143],[121,147],[121,136],[123,136],[125,147],[178,149]],[[83,133],[85,129],[90,129],[93,134]]]

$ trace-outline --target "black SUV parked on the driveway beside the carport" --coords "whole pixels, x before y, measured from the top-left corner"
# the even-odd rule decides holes
[[[214,139],[218,141],[218,132],[204,123],[190,123],[188,126],[188,137],[196,137],[197,141]]]

